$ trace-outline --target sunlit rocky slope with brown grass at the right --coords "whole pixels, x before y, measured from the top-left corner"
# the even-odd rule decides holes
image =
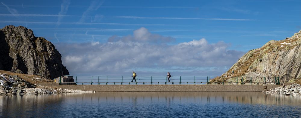
[[[252,82],[263,82],[264,77],[269,81],[279,77],[280,81],[284,82],[300,82],[300,44],[301,30],[290,38],[271,40],[261,48],[247,52],[226,73],[212,82],[222,81],[222,77],[228,82],[236,82],[236,77],[243,77],[243,82],[249,82],[250,77]]]

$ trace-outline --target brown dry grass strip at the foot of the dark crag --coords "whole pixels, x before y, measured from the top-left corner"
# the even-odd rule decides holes
[[[13,73],[10,71],[4,71],[0,70],[1,74],[7,74],[7,75],[18,75],[18,77],[26,80],[27,82],[33,84],[33,83],[39,83],[39,82],[54,82],[52,80],[42,78],[41,76],[38,75],[27,75],[27,74],[20,74],[20,73]]]

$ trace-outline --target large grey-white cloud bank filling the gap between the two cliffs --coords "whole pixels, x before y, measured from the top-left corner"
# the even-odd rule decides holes
[[[98,74],[151,69],[160,72],[174,67],[179,67],[176,70],[179,72],[200,72],[198,68],[229,68],[244,54],[227,50],[230,44],[224,42],[208,43],[200,39],[170,45],[162,43],[166,37],[154,35],[141,28],[134,31],[134,36],[111,37],[107,43],[58,43],[56,48],[71,73]]]

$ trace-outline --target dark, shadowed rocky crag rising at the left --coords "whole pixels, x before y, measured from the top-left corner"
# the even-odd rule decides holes
[[[61,54],[42,37],[26,27],[12,25],[0,29],[0,70],[54,79],[69,75]]]

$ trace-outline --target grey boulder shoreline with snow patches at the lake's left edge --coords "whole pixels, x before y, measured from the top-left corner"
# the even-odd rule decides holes
[[[52,93],[78,93],[95,92],[83,90],[69,90],[62,88],[50,88],[30,84],[17,75],[0,74],[0,94],[52,94]]]

